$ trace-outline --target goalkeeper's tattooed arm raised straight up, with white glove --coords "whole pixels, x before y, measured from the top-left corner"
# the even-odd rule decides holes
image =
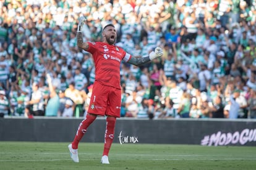
[[[85,17],[79,17],[79,24],[77,25],[77,47],[87,51],[89,45],[83,42],[83,25],[85,24]]]

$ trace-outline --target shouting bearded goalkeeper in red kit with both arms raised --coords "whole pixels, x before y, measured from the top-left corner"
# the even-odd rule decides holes
[[[124,60],[124,62],[132,65],[140,66],[161,57],[163,50],[156,47],[155,51],[152,51],[148,57],[132,57],[121,47],[114,45],[117,33],[113,24],[108,24],[103,28],[103,42],[84,42],[82,32],[84,22],[85,18],[80,17],[77,26],[77,46],[92,54],[95,63],[95,82],[88,114],[80,123],[72,144],[69,144],[70,157],[74,162],[79,162],[78,145],[88,126],[95,121],[98,115],[106,116],[105,144],[101,163],[109,164],[108,153],[114,139],[116,118],[120,117],[121,111],[121,62]]]

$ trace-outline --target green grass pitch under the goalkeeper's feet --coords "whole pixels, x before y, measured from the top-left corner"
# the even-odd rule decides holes
[[[0,169],[256,169],[256,147],[113,144],[101,164],[103,144],[79,144],[79,163],[65,142],[0,142]]]

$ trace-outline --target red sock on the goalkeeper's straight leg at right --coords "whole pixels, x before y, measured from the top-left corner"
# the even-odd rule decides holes
[[[108,156],[109,149],[114,139],[114,126],[116,124],[116,118],[108,116],[106,118],[106,131],[105,131],[105,144],[103,155]]]

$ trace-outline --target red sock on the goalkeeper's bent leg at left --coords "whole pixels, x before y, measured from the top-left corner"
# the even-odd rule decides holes
[[[87,131],[87,127],[90,126],[90,124],[93,123],[93,121],[95,121],[96,116],[92,115],[92,114],[87,114],[86,118],[83,119],[83,121],[80,123],[78,129],[77,129],[77,134],[75,135],[75,139],[72,142],[72,148],[73,149],[77,149],[80,140],[82,139],[83,135],[85,134],[85,132]]]

